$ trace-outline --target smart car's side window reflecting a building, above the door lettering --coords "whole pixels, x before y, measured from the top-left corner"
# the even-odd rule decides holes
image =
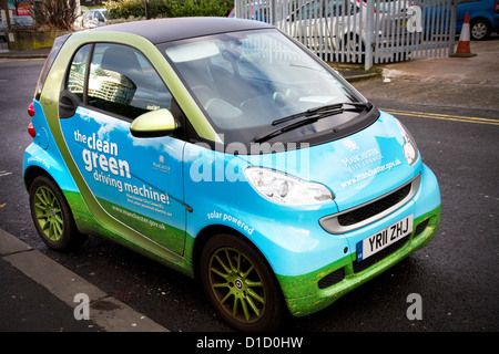
[[[67,90],[84,104],[130,119],[149,111],[171,110],[172,95],[149,60],[140,51],[115,43],[95,44],[84,97],[91,45],[77,52],[67,82]]]

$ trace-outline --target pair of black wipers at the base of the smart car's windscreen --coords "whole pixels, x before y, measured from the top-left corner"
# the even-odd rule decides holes
[[[344,108],[344,105],[353,105],[356,108],[354,111],[358,111],[358,108],[366,108],[367,111],[370,111],[370,108],[373,107],[373,104],[370,102],[345,102],[345,103],[335,103],[335,104],[329,104],[329,105],[325,105],[325,106],[320,106],[320,107],[316,107],[316,108],[309,108],[303,113],[298,113],[298,114],[294,114],[281,119],[276,119],[274,122],[272,122],[272,125],[277,125],[284,122],[288,122],[292,119],[295,119],[297,117],[301,116],[305,116],[304,119],[291,123],[288,125],[285,125],[278,129],[272,131],[265,135],[262,136],[255,136],[252,140],[252,143],[261,143],[261,142],[265,142],[268,140],[269,138],[281,135],[283,133],[289,132],[292,129],[295,129],[297,127],[301,127],[303,125],[307,125],[310,123],[315,123],[318,119],[322,118],[326,118],[333,115],[337,115],[337,114],[342,114],[345,111],[353,111],[352,108]]]

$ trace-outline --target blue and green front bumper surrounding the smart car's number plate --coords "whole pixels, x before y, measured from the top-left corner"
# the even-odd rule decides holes
[[[315,271],[296,275],[277,274],[291,314],[305,316],[338,300],[347,292],[379,275],[416,250],[425,247],[436,235],[440,222],[440,195],[435,175],[425,167],[421,185],[411,201],[360,230],[344,235],[349,249],[355,243],[381,230],[395,220],[414,215],[414,231],[400,241],[357,262],[356,252],[345,254]],[[333,236],[332,236],[333,237]]]

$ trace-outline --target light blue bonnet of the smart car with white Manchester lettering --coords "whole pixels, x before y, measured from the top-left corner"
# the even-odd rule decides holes
[[[420,158],[410,166],[396,119],[384,112],[367,128],[334,142],[265,155],[246,155],[253,166],[272,168],[320,183],[335,195],[339,211],[373,200],[413,179]]]

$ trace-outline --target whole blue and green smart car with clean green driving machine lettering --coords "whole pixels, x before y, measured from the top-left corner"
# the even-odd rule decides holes
[[[93,235],[198,279],[241,331],[278,327],[427,244],[415,139],[276,28],[181,18],[59,38],[28,108],[41,239]]]

